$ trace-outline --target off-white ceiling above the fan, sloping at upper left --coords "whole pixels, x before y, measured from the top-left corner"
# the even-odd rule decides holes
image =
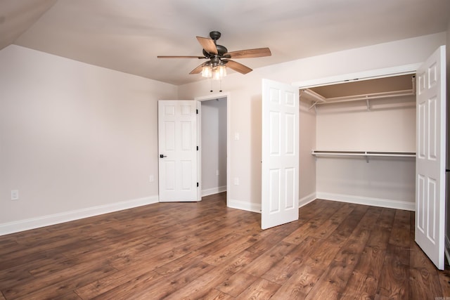
[[[449,0],[0,0],[0,49],[17,44],[171,84],[203,60],[195,36],[217,30],[255,69],[308,56],[444,32]],[[245,76],[245,75],[240,75]]]

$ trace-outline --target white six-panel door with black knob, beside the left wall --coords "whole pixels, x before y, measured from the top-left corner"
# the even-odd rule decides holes
[[[160,202],[197,201],[197,101],[158,101]]]

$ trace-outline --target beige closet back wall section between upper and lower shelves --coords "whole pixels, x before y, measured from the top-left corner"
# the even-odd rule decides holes
[[[416,97],[321,105],[319,150],[416,152]]]

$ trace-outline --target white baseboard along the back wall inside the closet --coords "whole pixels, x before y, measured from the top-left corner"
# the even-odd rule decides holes
[[[333,193],[317,192],[316,197],[323,200],[332,200],[338,202],[348,202],[354,204],[371,205],[373,207],[387,207],[390,209],[404,209],[408,211],[416,211],[415,202],[406,202],[399,200],[380,199],[372,197],[360,197],[354,195],[341,195]]]

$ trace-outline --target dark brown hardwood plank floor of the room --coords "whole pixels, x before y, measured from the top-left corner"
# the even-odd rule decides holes
[[[4,235],[0,299],[450,297],[411,211],[315,200],[299,221],[259,220],[221,193]]]

